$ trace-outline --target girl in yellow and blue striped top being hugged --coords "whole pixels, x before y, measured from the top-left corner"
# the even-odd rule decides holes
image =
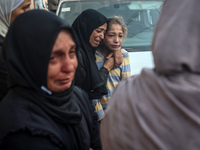
[[[124,19],[120,16],[113,16],[108,18],[107,31],[103,40],[103,44],[95,52],[96,64],[100,69],[106,57],[116,51],[121,51],[123,56],[122,64],[117,68],[112,68],[107,78],[107,91],[108,94],[104,95],[101,99],[101,105],[104,110],[107,108],[107,104],[112,95],[114,88],[124,78],[131,75],[130,58],[125,49],[122,49],[123,38],[126,38],[127,26]]]

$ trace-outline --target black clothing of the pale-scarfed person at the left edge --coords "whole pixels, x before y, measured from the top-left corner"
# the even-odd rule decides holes
[[[6,95],[8,91],[7,87],[7,69],[6,69],[6,63],[3,59],[3,41],[4,37],[0,35],[0,101],[3,99],[3,97]]]

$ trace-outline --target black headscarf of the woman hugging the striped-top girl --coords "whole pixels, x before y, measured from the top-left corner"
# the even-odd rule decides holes
[[[106,86],[100,77],[95,62],[95,50],[89,42],[93,30],[107,22],[107,18],[93,9],[83,11],[73,22],[72,27],[75,29],[80,42],[80,52],[83,57],[86,68],[86,84],[84,90],[89,92],[91,99],[101,98],[107,93]],[[76,79],[77,80],[77,79]],[[81,79],[78,79],[81,80]]]

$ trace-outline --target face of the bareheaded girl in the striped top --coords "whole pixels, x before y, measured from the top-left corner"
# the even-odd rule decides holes
[[[117,50],[123,41],[123,30],[119,24],[112,24],[105,34],[104,45],[111,51]]]

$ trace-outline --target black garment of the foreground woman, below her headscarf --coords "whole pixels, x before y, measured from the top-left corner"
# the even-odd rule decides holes
[[[44,149],[52,145],[51,149],[60,150],[88,150],[90,145],[101,149],[99,137],[94,139],[93,136],[90,143],[92,135],[99,131],[92,131],[93,116],[87,95],[77,87],[73,93],[73,100],[77,101],[82,111],[81,121],[79,124],[64,125],[54,121],[45,110],[28,101],[18,90],[10,91],[0,105],[0,149]]]

